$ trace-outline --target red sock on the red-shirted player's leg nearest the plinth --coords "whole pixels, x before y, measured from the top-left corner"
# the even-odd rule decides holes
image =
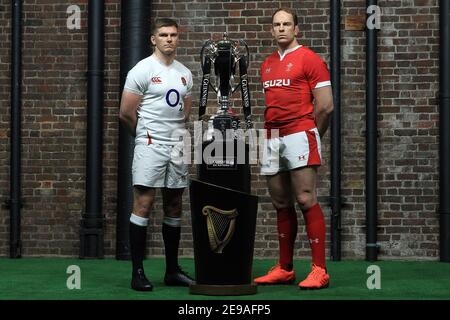
[[[294,207],[277,209],[278,242],[281,268],[291,271],[297,237],[297,213]]]

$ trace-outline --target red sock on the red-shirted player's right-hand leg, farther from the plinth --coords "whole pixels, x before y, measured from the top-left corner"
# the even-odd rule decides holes
[[[320,205],[316,203],[303,213],[311,246],[312,263],[325,269],[325,220]]]

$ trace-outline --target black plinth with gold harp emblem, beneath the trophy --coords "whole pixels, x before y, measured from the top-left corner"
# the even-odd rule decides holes
[[[252,282],[258,198],[248,193],[224,188],[203,181],[191,180],[190,198],[196,283],[190,293],[203,295],[248,295],[257,292]],[[208,212],[231,213],[232,235],[218,248],[212,249],[215,227],[208,221]],[[219,213],[220,214],[220,213]],[[226,219],[225,219],[226,220]],[[229,226],[230,227],[230,226]],[[224,233],[228,233],[228,229]],[[220,241],[218,241],[220,242]]]

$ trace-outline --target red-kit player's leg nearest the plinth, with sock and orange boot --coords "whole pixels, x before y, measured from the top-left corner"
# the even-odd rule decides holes
[[[293,254],[297,236],[297,214],[291,191],[289,172],[267,176],[272,204],[277,212],[279,261],[268,274],[256,278],[258,284],[292,283],[295,280]]]

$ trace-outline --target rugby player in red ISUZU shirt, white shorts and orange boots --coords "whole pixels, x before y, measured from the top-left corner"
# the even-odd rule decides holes
[[[291,9],[279,9],[272,16],[272,35],[278,50],[261,65],[267,129],[265,159],[261,174],[267,178],[277,212],[279,260],[257,284],[295,281],[294,244],[299,205],[305,219],[312,268],[301,289],[328,287],[325,265],[325,221],[317,202],[317,169],[321,165],[321,138],[333,111],[330,75],[324,61],[300,45],[298,18]],[[275,132],[277,134],[275,134]]]

